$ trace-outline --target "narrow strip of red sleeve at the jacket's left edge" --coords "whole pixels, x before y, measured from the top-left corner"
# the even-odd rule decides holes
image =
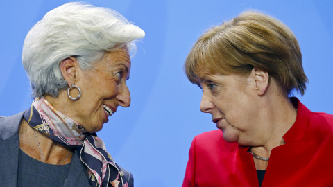
[[[182,187],[194,187],[196,171],[196,137],[194,137],[191,148],[189,148],[189,161],[187,161],[186,172]]]

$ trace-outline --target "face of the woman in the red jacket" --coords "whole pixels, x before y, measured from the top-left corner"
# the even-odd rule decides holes
[[[203,97],[200,110],[212,114],[212,121],[223,131],[223,139],[240,145],[255,132],[256,116],[253,85],[241,75],[204,75],[200,78]]]

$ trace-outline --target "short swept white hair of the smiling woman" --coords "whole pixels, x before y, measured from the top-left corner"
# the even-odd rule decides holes
[[[59,96],[67,89],[60,62],[76,57],[84,71],[107,51],[127,46],[135,53],[142,29],[118,12],[84,3],[66,3],[46,13],[26,35],[22,62],[31,82],[32,96]]]

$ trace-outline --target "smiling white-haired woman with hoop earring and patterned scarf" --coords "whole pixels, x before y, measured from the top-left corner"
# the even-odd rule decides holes
[[[130,106],[129,53],[142,37],[119,13],[83,3],[55,8],[31,28],[22,61],[35,100],[0,117],[1,185],[133,186],[95,132]]]

